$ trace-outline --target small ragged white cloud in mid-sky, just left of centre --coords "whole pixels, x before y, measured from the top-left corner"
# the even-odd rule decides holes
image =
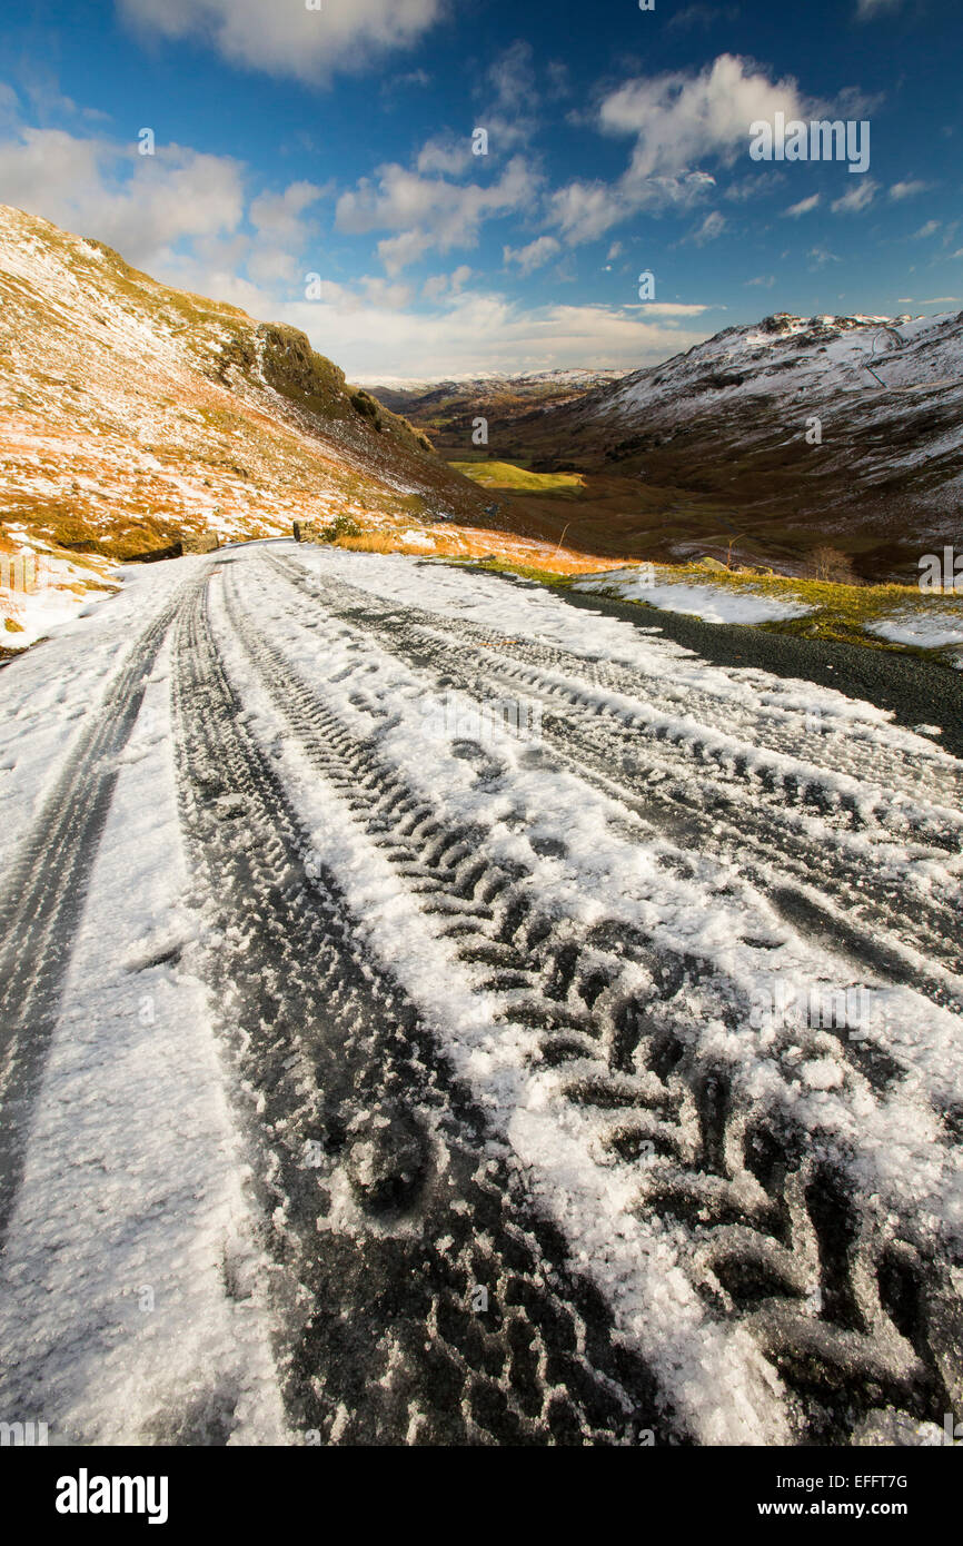
[[[394,230],[379,243],[379,255],[388,274],[397,274],[431,249],[473,247],[485,220],[527,209],[536,187],[535,173],[519,156],[487,187],[424,178],[393,162],[377,169],[377,186],[362,178],[340,196],[335,224],[354,235]]]

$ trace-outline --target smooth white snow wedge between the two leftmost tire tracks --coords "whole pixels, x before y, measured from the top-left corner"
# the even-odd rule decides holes
[[[246,1155],[179,966],[168,693],[165,642],[116,759],[0,1257],[0,1413],[42,1416],[51,1444],[289,1441]]]

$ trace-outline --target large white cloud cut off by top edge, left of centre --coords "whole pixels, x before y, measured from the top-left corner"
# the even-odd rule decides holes
[[[362,70],[385,49],[414,43],[442,0],[117,0],[134,26],[176,39],[198,36],[224,59],[272,76],[323,83],[335,70]]]

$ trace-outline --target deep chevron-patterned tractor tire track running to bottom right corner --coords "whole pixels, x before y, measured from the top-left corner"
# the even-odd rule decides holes
[[[570,1068],[555,1098],[601,1113],[592,1136],[634,1173],[635,1207],[679,1223],[692,1279],[781,1368],[808,1436],[839,1441],[883,1401],[938,1421],[948,1382],[955,1388],[944,1271],[880,1229],[804,1130],[765,1102],[747,1108],[725,1068],[699,1056],[672,1000],[708,963],[617,923],[581,937],[553,929],[519,877],[485,860],[484,830],[445,826],[236,604],[229,615],[311,764],[427,911],[448,920],[439,929],[462,960],[490,968],[479,993],[509,999],[493,1016],[544,1031],[544,1064]],[[640,962],[655,1002],[632,991],[626,965]],[[640,1166],[646,1152],[655,1163]]]

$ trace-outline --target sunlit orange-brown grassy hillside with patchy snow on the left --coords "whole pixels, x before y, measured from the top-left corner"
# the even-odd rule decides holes
[[[6,552],[133,558],[295,518],[484,519],[484,495],[305,334],[14,209],[0,209],[0,414]]]

